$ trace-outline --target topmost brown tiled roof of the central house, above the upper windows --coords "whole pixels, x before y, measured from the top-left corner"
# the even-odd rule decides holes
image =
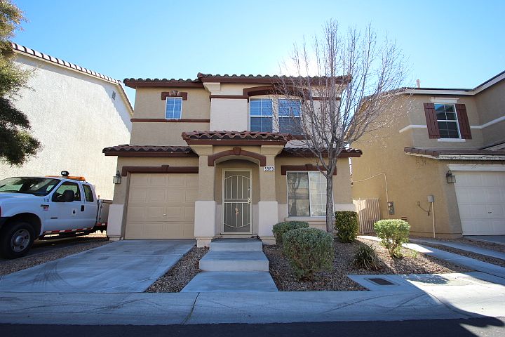
[[[322,78],[322,77],[321,77]],[[124,79],[124,84],[130,88],[138,87],[197,87],[203,88],[203,83],[243,83],[243,84],[275,84],[283,80],[295,79],[295,77],[277,76],[277,75],[229,75],[229,74],[203,74],[198,72],[196,79]],[[319,77],[311,77],[319,79]],[[348,76],[337,77],[342,83],[349,81]]]

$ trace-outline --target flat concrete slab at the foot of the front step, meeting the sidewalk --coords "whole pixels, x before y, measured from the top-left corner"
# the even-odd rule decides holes
[[[269,272],[201,272],[184,286],[181,293],[213,291],[250,293],[278,290]]]

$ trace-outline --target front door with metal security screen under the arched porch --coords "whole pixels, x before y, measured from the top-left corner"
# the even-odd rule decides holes
[[[223,233],[250,234],[253,230],[250,170],[223,170]]]

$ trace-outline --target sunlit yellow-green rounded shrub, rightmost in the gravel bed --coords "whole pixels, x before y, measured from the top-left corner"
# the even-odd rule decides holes
[[[392,258],[401,258],[401,245],[408,242],[410,225],[400,219],[379,220],[374,224],[377,237]]]

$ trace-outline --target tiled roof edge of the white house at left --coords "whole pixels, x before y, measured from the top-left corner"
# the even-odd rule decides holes
[[[11,43],[11,46],[13,48],[13,51],[20,53],[22,55],[27,55],[32,58],[38,58],[38,59],[44,60],[46,62],[54,63],[55,65],[59,65],[60,67],[67,67],[67,68],[74,70],[76,72],[82,72],[83,74],[86,74],[90,77],[96,77],[97,79],[101,79],[103,81],[107,81],[109,83],[115,84],[116,86],[118,86],[119,91],[121,92],[121,95],[123,96],[123,99],[127,103],[126,105],[128,106],[128,108],[130,110],[130,115],[133,115],[133,107],[130,103],[130,100],[128,100],[128,96],[126,95],[124,88],[121,85],[121,81],[119,81],[119,79],[113,79],[112,77],[108,77],[107,75],[100,74],[100,72],[95,72],[93,70],[86,69],[85,67],[81,67],[80,65],[74,65],[74,63],[67,62],[67,61],[62,60],[60,58],[55,58],[51,55],[41,53],[39,51],[27,48],[25,46],[21,46],[20,44]]]

